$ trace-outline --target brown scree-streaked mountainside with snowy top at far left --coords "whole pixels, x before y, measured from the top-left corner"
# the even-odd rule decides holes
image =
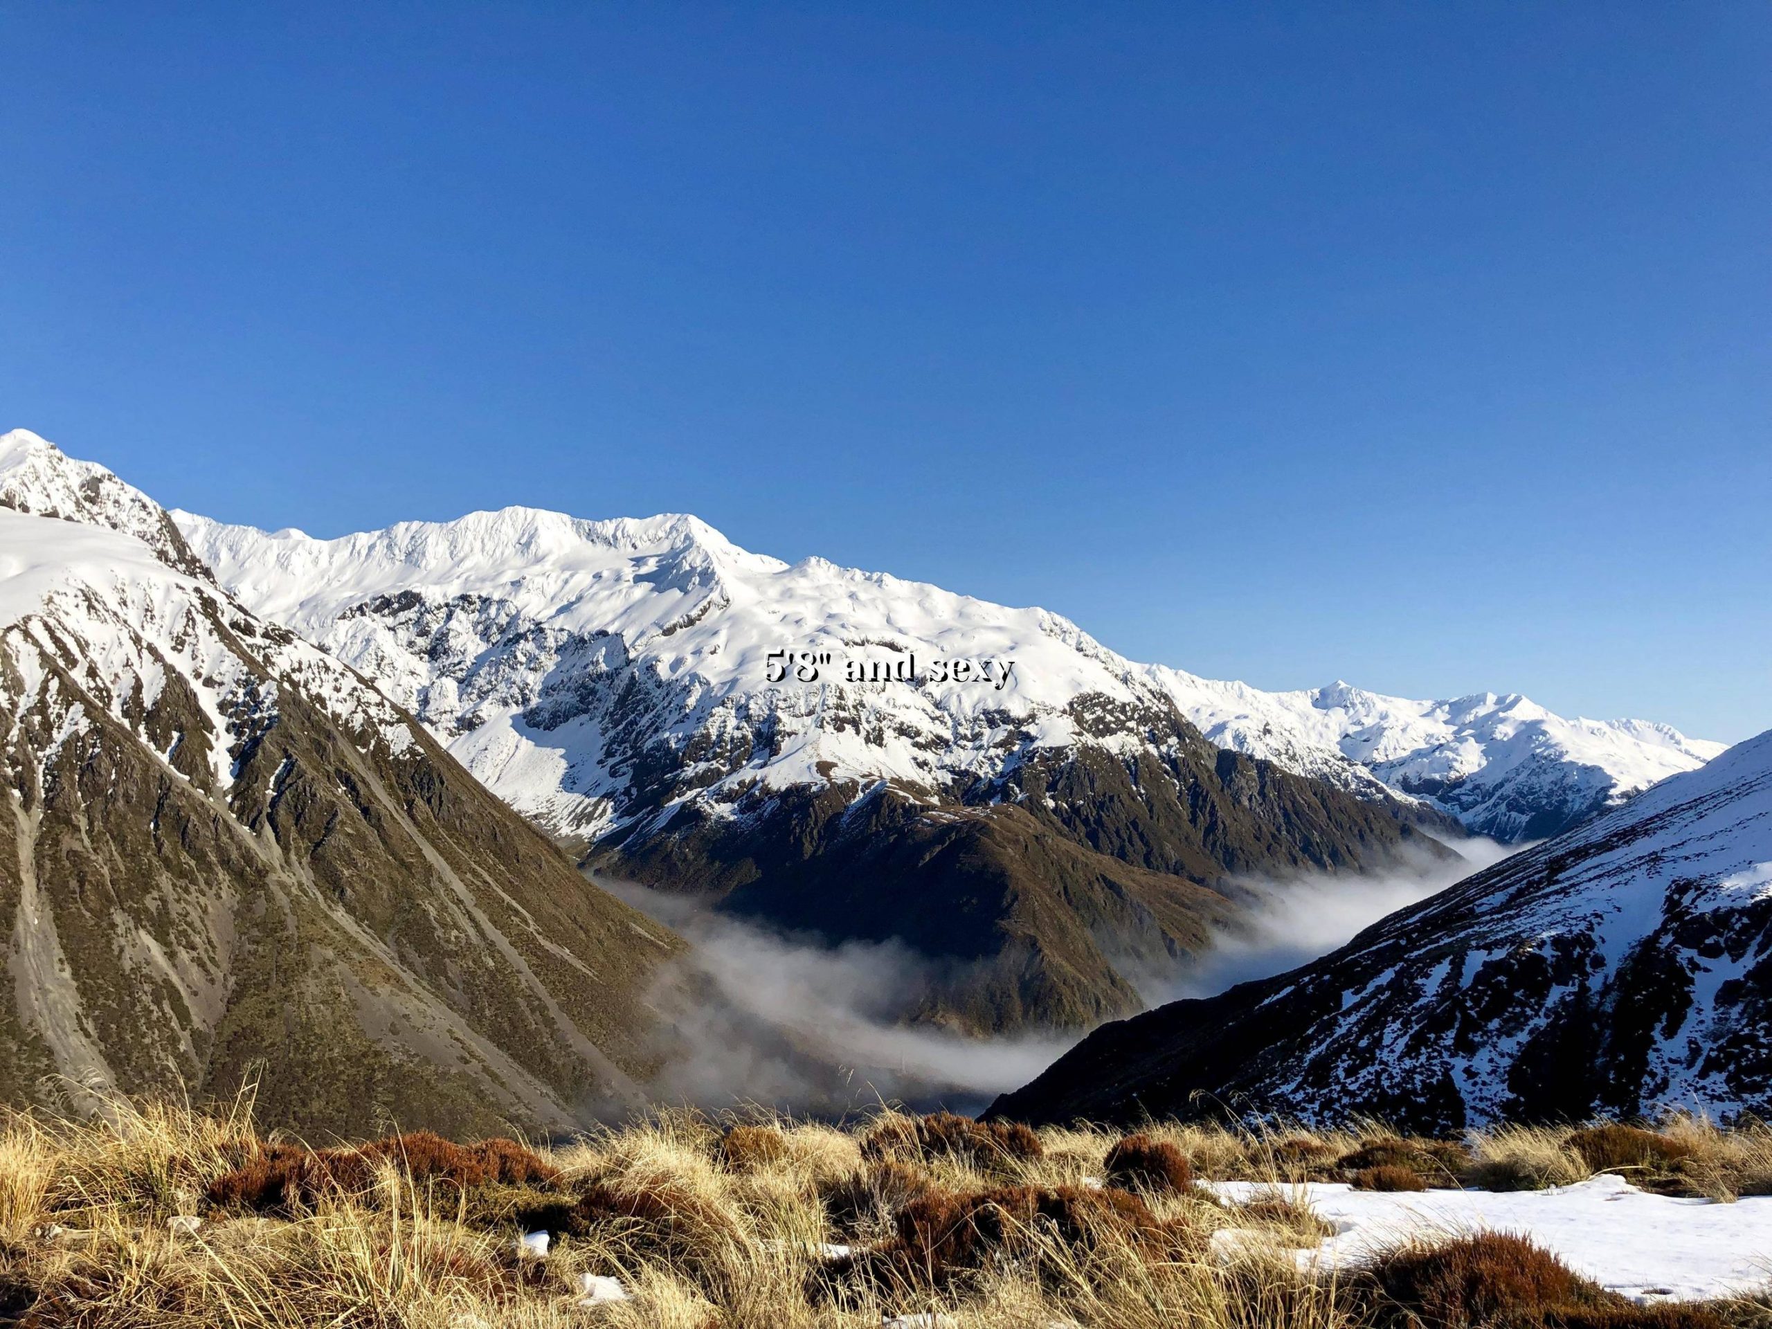
[[[257,1079],[308,1134],[548,1129],[657,1060],[666,929],[27,434],[0,438],[0,1097]]]

